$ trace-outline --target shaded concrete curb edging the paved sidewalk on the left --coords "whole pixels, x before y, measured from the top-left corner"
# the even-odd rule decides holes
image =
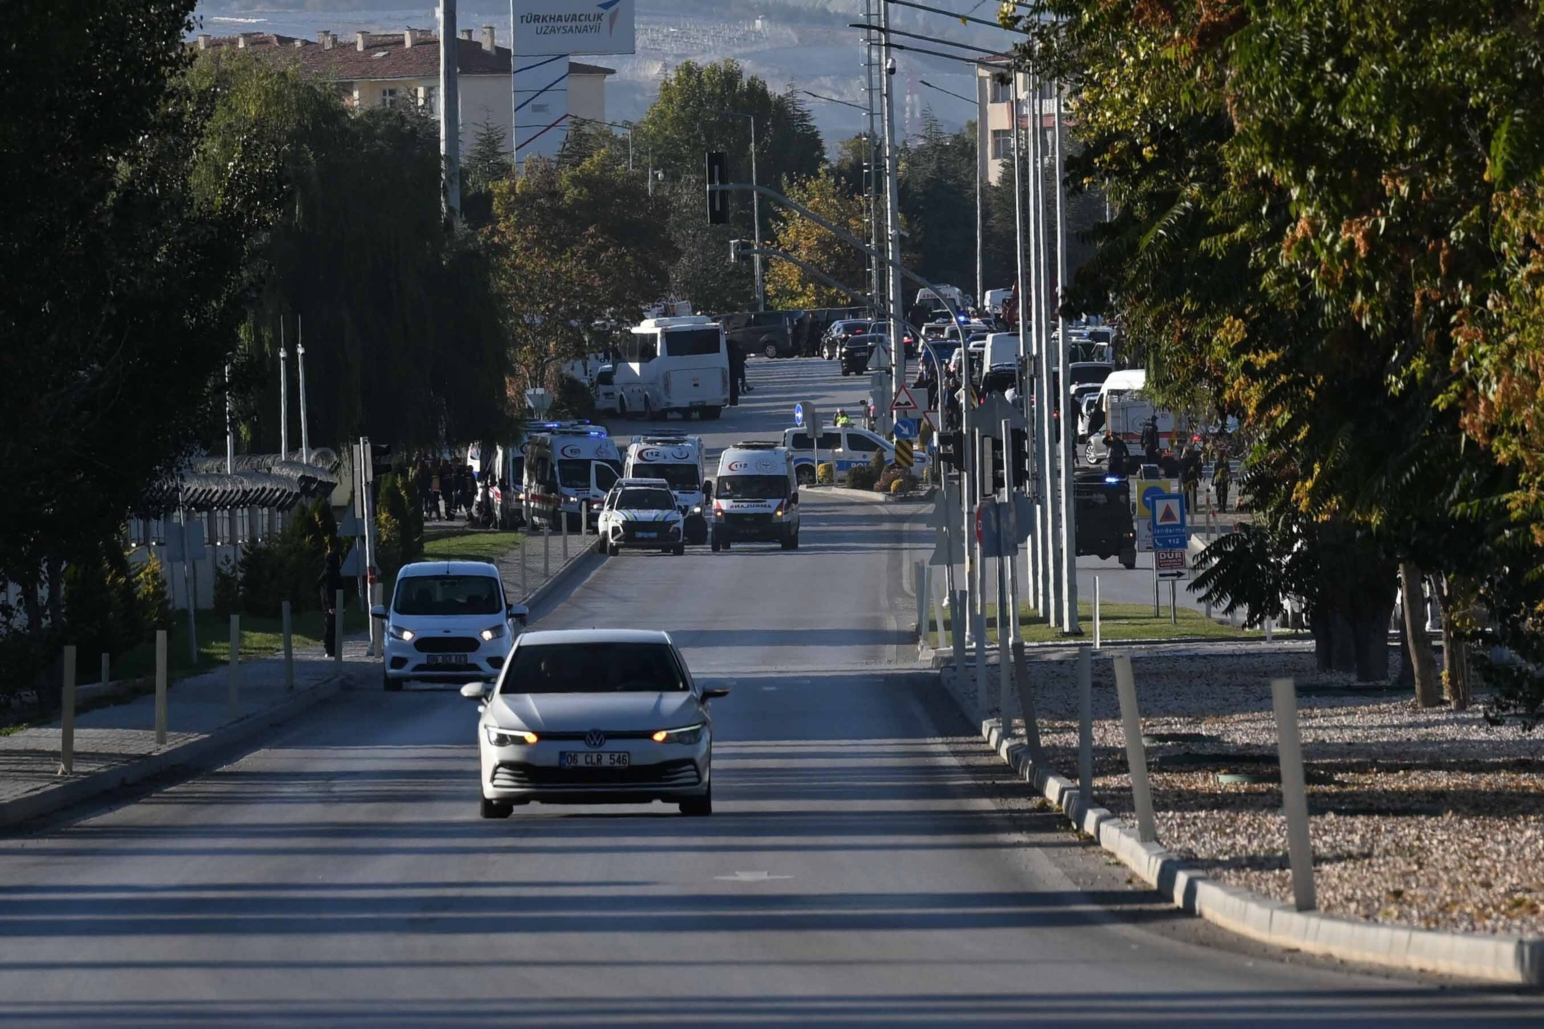
[[[374,668],[375,662],[371,662],[369,666]],[[100,771],[80,776],[79,779],[49,784],[34,790],[32,793],[25,793],[22,796],[11,798],[9,801],[0,801],[0,827],[29,822],[36,818],[42,818],[43,815],[51,815],[82,801],[102,796],[103,793],[134,785],[136,782],[179,765],[198,765],[216,761],[222,751],[233,748],[236,744],[241,744],[266,728],[287,722],[289,719],[303,714],[309,708],[335,696],[340,690],[343,690],[344,682],[358,674],[358,671],[360,670],[349,668],[334,673],[313,687],[298,690],[293,697],[289,697],[281,703],[275,703],[262,711],[245,714],[205,736],[191,739],[176,747],[168,747],[161,753],[134,757],[120,765],[113,765],[111,768],[102,768]]]

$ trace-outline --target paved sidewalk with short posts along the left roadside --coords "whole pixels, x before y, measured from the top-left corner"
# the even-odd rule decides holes
[[[167,742],[156,747],[154,696],[76,716],[74,770],[60,774],[59,722],[0,736],[0,825],[37,818],[90,796],[198,761],[278,719],[337,693],[346,680],[367,683],[378,665],[366,639],[344,640],[340,665],[320,646],[295,651],[295,688],[286,690],[284,659],[241,665],[238,707],[229,705],[229,670],[191,676],[167,690]]]

